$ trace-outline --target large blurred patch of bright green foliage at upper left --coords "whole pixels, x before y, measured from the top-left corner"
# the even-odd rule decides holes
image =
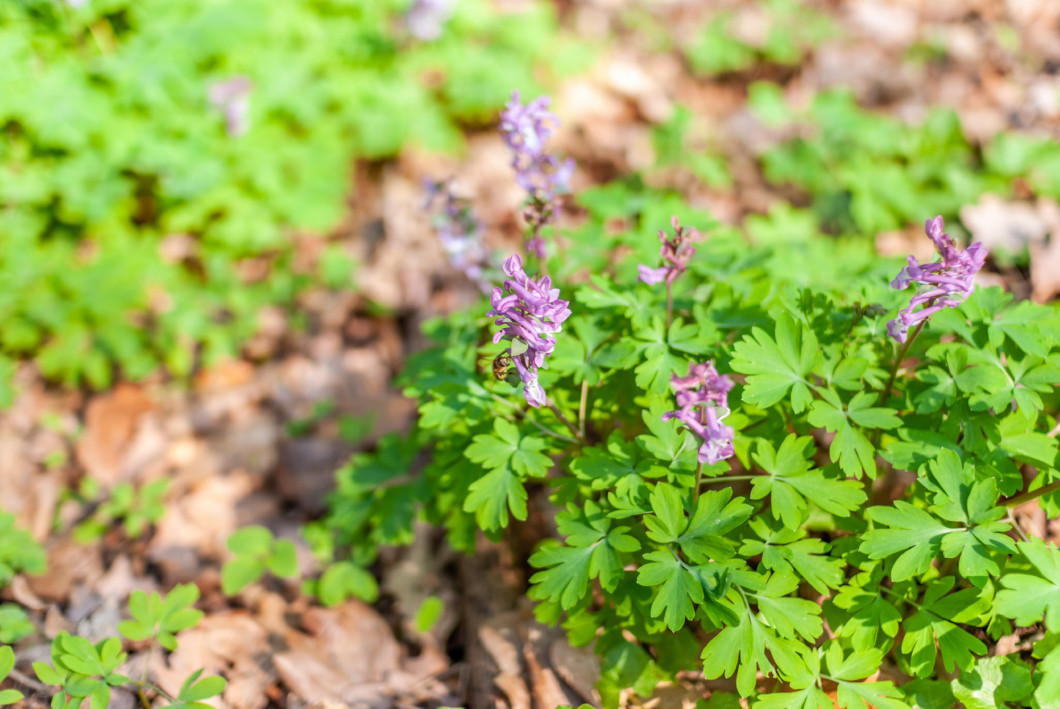
[[[262,305],[349,284],[341,258],[292,272],[289,235],[337,224],[354,159],[458,149],[462,124],[538,88],[535,68],[579,57],[548,3],[462,0],[432,42],[408,35],[406,4],[0,4],[0,405],[18,358],[103,388],[236,353]],[[233,79],[243,135],[210,101]],[[242,276],[259,256],[268,277]]]

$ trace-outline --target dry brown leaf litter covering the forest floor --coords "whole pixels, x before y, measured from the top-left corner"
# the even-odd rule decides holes
[[[658,48],[659,37],[675,28],[681,43],[704,13],[724,6],[736,13],[736,32],[754,40],[767,19],[759,3],[669,0],[654,3],[651,14],[624,0],[562,6],[569,30],[611,47],[587,75],[555,91],[564,121],[558,148],[578,161],[576,190],[652,167],[652,127],[682,105],[693,117],[693,138],[722,148],[735,188],[703,187],[682,170],[654,171],[653,180],[730,224],[791,199],[756,165],[783,138],[746,107],[747,86],[763,78],[780,82],[795,102],[845,86],[864,106],[913,121],[931,106],[950,106],[973,141],[1008,129],[1060,128],[1060,4],[1050,0],[823,3],[840,32],[801,65],[761,65],[714,79],[694,76],[676,52]],[[1011,31],[999,31],[1001,23]],[[924,46],[931,60],[907,58]],[[250,524],[297,540],[301,569],[312,573],[299,526],[322,510],[334,471],[352,451],[409,424],[412,408],[390,377],[422,347],[425,317],[475,297],[446,266],[420,212],[421,178],[446,175],[473,197],[495,246],[517,243],[519,192],[507,155],[495,135],[479,132],[459,161],[406,154],[356,167],[351,216],[336,237],[364,265],[358,293],[307,294],[300,304],[304,331],[287,315],[266,312],[244,359],[201,372],[187,389],[148,382],[85,396],[45,387],[30,368],[20,372],[23,393],[0,420],[0,500],[46,543],[49,568],[2,592],[30,609],[38,628],[18,644],[19,667],[47,659],[48,638],[61,630],[93,639],[116,634],[134,589],[193,582],[206,619],[169,657],[134,652],[129,674],[147,662],[173,691],[205,668],[229,679],[220,706],[234,709],[529,709],[598,701],[596,660],[532,621],[520,600],[524,560],[504,546],[483,544],[478,556],[458,557],[424,529],[375,569],[383,599],[374,608],[349,602],[322,609],[297,582],[257,584],[234,599],[219,590],[225,539]],[[991,278],[1041,300],[1060,291],[1060,208],[985,198],[969,209],[962,220],[976,236],[1030,234],[1030,268]],[[878,247],[904,251],[918,232],[912,225],[907,234],[883,234]],[[86,511],[64,500],[64,491],[86,475],[104,488],[169,478],[165,516],[139,540],[116,529],[99,542],[74,543],[69,531]],[[1018,514],[1028,532],[1060,534],[1037,507]],[[428,595],[442,598],[445,610],[421,633],[412,616]],[[29,695],[26,706],[49,699],[30,683],[15,686]],[[692,706],[705,689],[689,677],[661,690],[652,706]],[[131,706],[134,697],[116,702]]]

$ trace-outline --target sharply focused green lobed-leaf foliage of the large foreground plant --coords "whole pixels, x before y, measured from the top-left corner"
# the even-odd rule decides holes
[[[528,593],[540,619],[595,645],[608,705],[688,670],[732,677],[763,707],[830,703],[831,687],[859,709],[979,706],[982,687],[1060,699],[1060,552],[1011,515],[1030,499],[1060,510],[1060,309],[980,287],[898,345],[886,323],[908,302],[888,285],[901,264],[810,221],[757,246],[714,229],[674,282],[668,325],[666,290],[636,267],[657,263],[673,200],[636,180],[580,199],[582,230],[633,228],[610,245],[623,259],[572,235],[547,264],[595,273],[555,278],[572,315],[540,378],[556,410],[527,408],[478,364],[509,347],[490,342],[484,304],[428,324],[439,345],[402,377],[419,423],[339,472],[322,524],[335,548],[367,566],[425,518],[471,552],[547,495],[558,535],[530,557]],[[748,230],[784,218],[797,217]],[[671,378],[703,361],[736,383],[734,457],[713,464],[664,421]],[[421,447],[430,460],[413,466]],[[1026,650],[989,657],[1018,628]]]

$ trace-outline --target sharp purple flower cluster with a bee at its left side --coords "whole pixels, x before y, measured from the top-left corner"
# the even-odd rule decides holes
[[[506,337],[512,340],[512,364],[523,380],[523,395],[527,404],[541,407],[548,403],[545,391],[537,383],[537,368],[555,350],[555,334],[563,321],[570,317],[570,303],[560,299],[560,289],[552,287],[547,276],[534,281],[523,270],[518,255],[505,260],[505,287],[495,287],[488,317],[496,317],[501,329],[494,334],[494,343]],[[510,291],[504,295],[505,290]]]

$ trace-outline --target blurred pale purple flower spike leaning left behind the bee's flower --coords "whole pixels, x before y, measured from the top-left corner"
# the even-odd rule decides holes
[[[441,209],[431,214],[430,221],[449,263],[483,293],[489,293],[490,283],[483,271],[490,265],[490,251],[482,243],[482,225],[471,205],[453,194],[448,181],[424,180],[423,185],[427,192],[424,209],[432,210],[436,203],[441,205]]]

